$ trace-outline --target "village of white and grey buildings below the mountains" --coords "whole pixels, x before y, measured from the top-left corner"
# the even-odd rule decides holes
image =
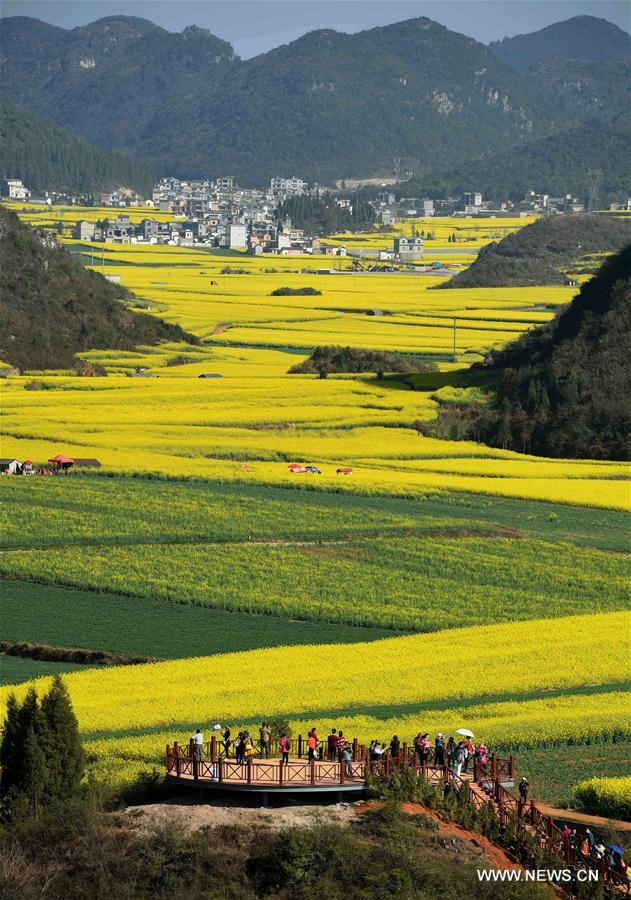
[[[300,178],[274,177],[266,189],[242,188],[235,176],[222,176],[214,180],[184,180],[175,177],[160,179],[150,197],[143,197],[131,188],[94,195],[69,195],[46,191],[34,196],[19,178],[0,181],[0,194],[13,201],[48,206],[98,206],[117,210],[116,215],[98,221],[79,220],[72,236],[78,241],[113,244],[168,244],[171,246],[203,246],[237,250],[254,256],[271,255],[330,255],[345,256],[345,246],[327,244],[317,229],[296,227],[289,216],[280,215],[279,207],[296,197],[333,197],[340,210],[353,212],[354,200],[337,191],[308,184]],[[369,201],[371,229],[384,231],[396,226],[402,219],[462,217],[476,219],[502,219],[529,215],[555,215],[584,212],[592,208],[590,198],[578,198],[571,193],[552,197],[545,193],[528,191],[519,202],[494,201],[479,191],[468,191],[459,197],[430,199],[399,197],[387,185]],[[612,204],[612,208],[630,209],[631,198]],[[140,222],[132,221],[126,209],[155,209],[160,216],[147,215]],[[122,210],[122,211],[120,211]],[[165,220],[164,214],[172,214]],[[137,217],[134,217],[135,219]],[[402,238],[393,246],[374,251],[355,249],[353,256],[366,255],[381,262],[395,260],[415,262],[424,253],[423,236]],[[351,254],[349,254],[351,255]]]

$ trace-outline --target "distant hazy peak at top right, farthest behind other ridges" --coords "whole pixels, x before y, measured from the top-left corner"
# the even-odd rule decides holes
[[[489,48],[509,66],[524,72],[542,60],[631,60],[631,35],[606,19],[575,16],[530,34],[494,41]]]

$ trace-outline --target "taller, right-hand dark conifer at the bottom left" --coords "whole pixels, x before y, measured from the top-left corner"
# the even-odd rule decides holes
[[[42,699],[46,723],[49,793],[59,799],[71,797],[83,777],[85,754],[79,736],[77,717],[60,675],[56,675]]]

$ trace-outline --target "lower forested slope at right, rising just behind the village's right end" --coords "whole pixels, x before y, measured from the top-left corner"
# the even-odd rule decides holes
[[[630,157],[631,116],[623,116],[487,153],[457,168],[429,170],[393,189],[405,197],[458,197],[472,188],[495,200],[521,200],[529,190],[583,197],[588,193],[588,173],[597,169],[602,173],[599,201],[606,205],[628,194]]]

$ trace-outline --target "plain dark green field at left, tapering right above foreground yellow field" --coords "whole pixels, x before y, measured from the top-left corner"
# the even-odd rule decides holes
[[[377,640],[378,628],[298,622],[0,579],[0,637],[52,647],[106,650],[116,656],[175,659],[257,647]],[[0,680],[12,684],[85,668],[0,656]]]

